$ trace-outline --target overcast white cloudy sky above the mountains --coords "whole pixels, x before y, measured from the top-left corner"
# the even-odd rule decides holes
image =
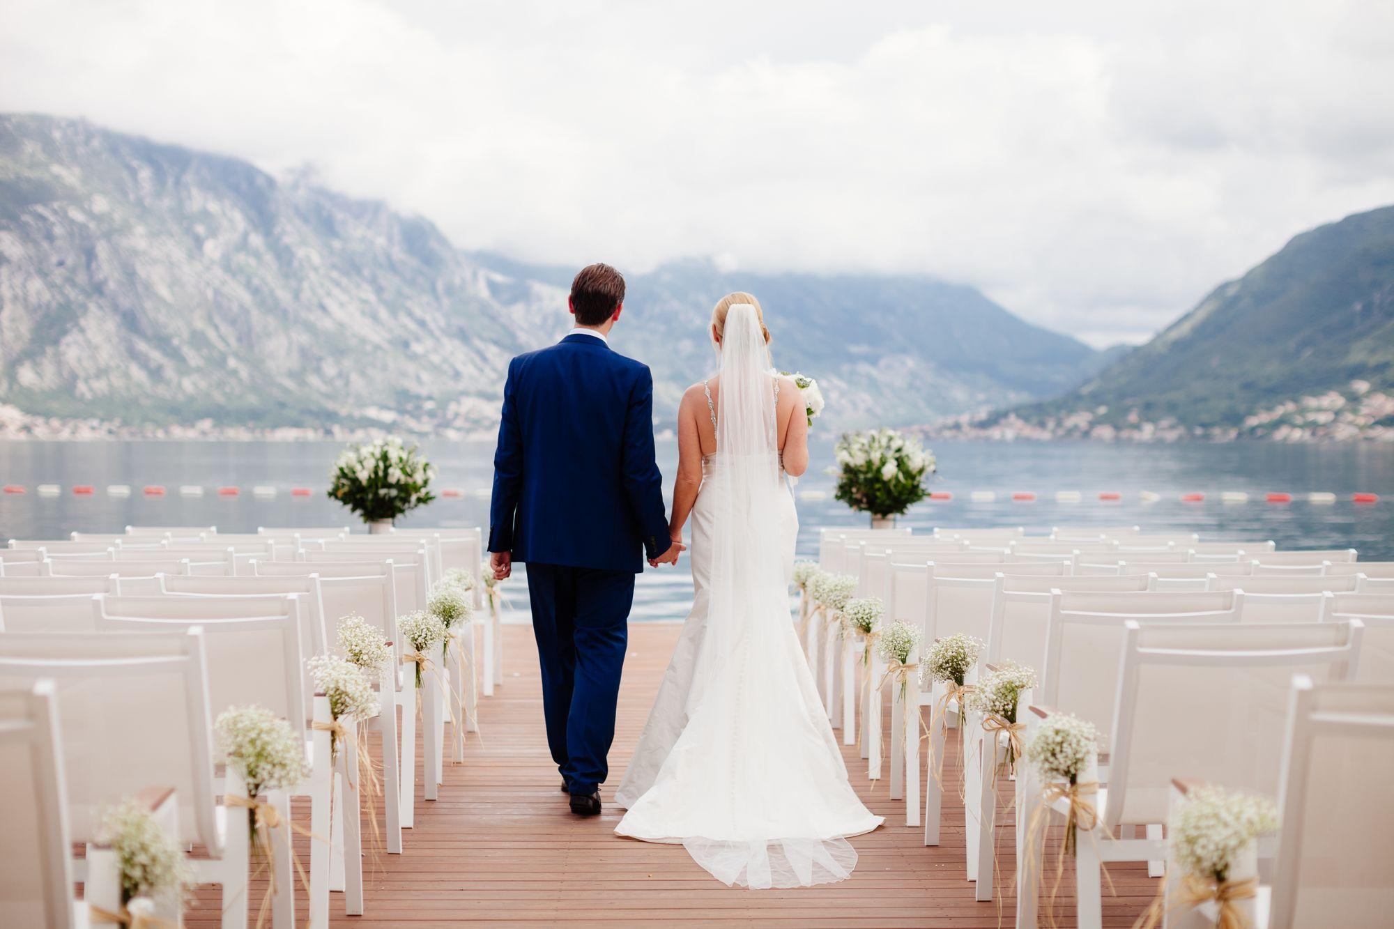
[[[459,246],[928,273],[1136,342],[1394,204],[1387,0],[0,0],[0,109],[251,159]]]

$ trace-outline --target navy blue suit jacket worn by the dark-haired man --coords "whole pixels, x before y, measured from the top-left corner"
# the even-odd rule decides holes
[[[647,365],[581,333],[509,363],[489,551],[641,572],[672,545],[662,480]]]

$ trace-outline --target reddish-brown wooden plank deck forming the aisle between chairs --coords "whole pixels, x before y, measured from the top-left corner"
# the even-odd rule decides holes
[[[853,876],[838,884],[728,889],[694,865],[682,847],[616,837],[620,810],[606,806],[599,817],[573,816],[546,750],[533,632],[528,626],[506,626],[505,636],[505,683],[493,697],[480,702],[482,739],[471,738],[464,764],[447,760],[438,801],[425,802],[417,785],[417,824],[403,833],[404,854],[365,862],[365,915],[344,916],[343,896],[332,894],[333,925],[1012,925],[1009,890],[1001,894],[999,904],[973,900],[973,884],[965,876],[963,810],[956,792],[945,791],[942,844],[927,848],[921,829],[903,826],[905,806],[888,799],[885,783],[873,787],[866,780],[866,763],[855,746],[843,748],[852,783],[888,822],[852,840],[860,862]],[[676,625],[630,626],[611,783],[602,790],[606,803],[638,739],[676,639]],[[889,720],[889,711],[884,718]],[[952,764],[945,783],[958,783]],[[1009,790],[1004,784],[1005,795]],[[307,813],[297,805],[297,819]],[[1002,883],[1011,883],[1009,830],[998,830],[998,847],[1004,852]],[[301,856],[308,861],[304,848]],[[1131,926],[1156,893],[1157,882],[1146,877],[1142,865],[1115,865],[1110,875],[1118,896],[1105,896],[1104,922]],[[1073,925],[1071,887],[1066,873],[1058,908],[1062,926]],[[256,900],[259,891],[254,891]],[[298,909],[304,918],[304,907]],[[199,894],[187,923],[216,925],[209,894]]]

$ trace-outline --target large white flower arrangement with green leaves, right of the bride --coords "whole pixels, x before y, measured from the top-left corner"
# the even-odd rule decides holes
[[[919,439],[895,430],[843,432],[834,455],[836,498],[852,509],[885,519],[928,495],[924,478],[934,473],[935,460]]]

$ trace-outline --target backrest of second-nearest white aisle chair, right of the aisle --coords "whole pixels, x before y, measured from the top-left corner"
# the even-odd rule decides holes
[[[1347,679],[1361,649],[1358,619],[1124,625],[1108,826],[1165,822],[1178,771],[1276,796],[1292,675]]]

